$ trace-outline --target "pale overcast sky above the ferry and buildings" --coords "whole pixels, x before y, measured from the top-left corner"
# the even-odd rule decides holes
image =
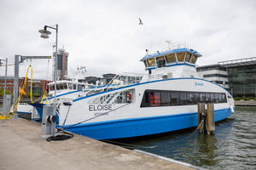
[[[87,76],[143,73],[145,49],[164,51],[166,40],[200,52],[197,65],[256,57],[254,0],[0,0],[0,59],[51,55],[55,31],[43,39],[38,30],[55,24],[59,48],[69,53],[69,75],[81,65]],[[20,65],[20,77],[29,63]],[[33,60],[32,66],[34,78],[51,78],[51,61]]]

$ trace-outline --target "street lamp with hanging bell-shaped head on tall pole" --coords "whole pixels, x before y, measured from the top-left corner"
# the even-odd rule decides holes
[[[56,42],[55,42],[55,73],[54,73],[54,79],[55,79],[55,103],[56,103],[56,77],[57,77],[57,70],[56,70],[56,63],[57,63],[57,55],[58,55],[58,25],[53,26],[44,26],[44,30],[39,30],[41,33],[41,37],[43,38],[49,38],[49,34],[51,34],[50,31],[47,30],[47,28],[53,29],[56,31]]]

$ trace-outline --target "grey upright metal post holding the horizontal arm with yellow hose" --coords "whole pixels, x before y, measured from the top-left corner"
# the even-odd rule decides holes
[[[19,88],[19,60],[20,55],[15,55],[15,78],[14,78],[14,104],[16,100],[18,99],[18,88]],[[14,112],[14,115],[12,117],[13,119],[17,119],[17,111]]]

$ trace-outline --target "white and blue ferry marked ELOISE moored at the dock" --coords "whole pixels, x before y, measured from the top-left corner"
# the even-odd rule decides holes
[[[59,127],[92,139],[120,139],[167,133],[198,125],[197,104],[214,103],[214,121],[234,112],[224,88],[198,77],[201,54],[177,48],[146,54],[146,75],[121,74],[58,106]]]

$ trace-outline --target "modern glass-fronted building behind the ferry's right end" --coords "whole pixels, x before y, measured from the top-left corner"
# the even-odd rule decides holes
[[[227,88],[233,97],[256,99],[256,57],[221,61],[196,70],[201,78]]]

